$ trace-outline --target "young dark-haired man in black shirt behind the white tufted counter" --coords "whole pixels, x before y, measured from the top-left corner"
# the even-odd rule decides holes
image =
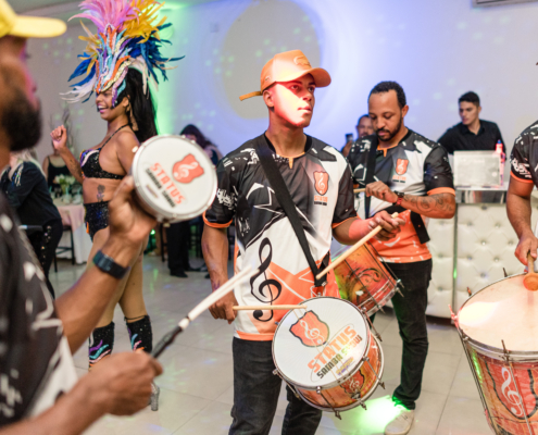
[[[449,128],[438,140],[449,154],[454,151],[495,151],[497,144],[502,144],[502,152],[506,147],[501,130],[496,123],[479,119],[480,98],[475,92],[460,97],[460,117],[462,122]]]

